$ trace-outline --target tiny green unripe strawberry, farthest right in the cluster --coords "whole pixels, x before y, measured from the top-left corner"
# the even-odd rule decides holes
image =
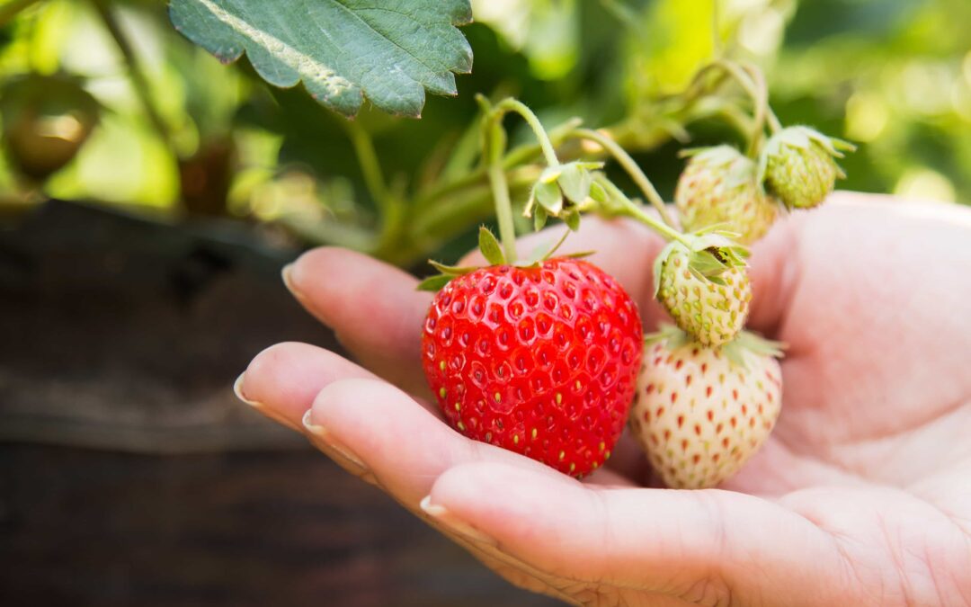
[[[759,158],[758,181],[788,209],[810,209],[846,178],[833,160],[855,147],[807,126],[789,126],[766,142]]]

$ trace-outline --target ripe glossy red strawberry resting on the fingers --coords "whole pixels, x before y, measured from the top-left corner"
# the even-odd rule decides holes
[[[428,311],[422,364],[452,427],[580,477],[623,430],[641,340],[623,288],[559,257],[453,279]]]

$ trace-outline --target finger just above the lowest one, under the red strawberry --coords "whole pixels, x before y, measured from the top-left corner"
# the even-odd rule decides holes
[[[439,475],[462,463],[498,461],[536,476],[570,480],[538,461],[465,438],[380,380],[329,384],[318,393],[306,422],[309,432],[353,455],[391,496],[412,509]]]

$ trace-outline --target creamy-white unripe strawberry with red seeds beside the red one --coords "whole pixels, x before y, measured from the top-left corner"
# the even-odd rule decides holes
[[[705,348],[674,327],[648,339],[630,428],[668,487],[715,487],[762,446],[782,404],[778,346],[743,332]]]

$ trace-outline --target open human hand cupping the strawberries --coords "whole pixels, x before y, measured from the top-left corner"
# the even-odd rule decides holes
[[[650,330],[661,246],[588,218],[565,249],[596,250]],[[237,391],[514,584],[571,603],[971,604],[971,212],[838,193],[780,221],[751,265],[750,326],[788,345],[784,405],[721,489],[650,489],[626,435],[583,482],[464,438],[427,398],[430,295],[347,251],[306,253],[287,282],[367,370],[280,344]]]

